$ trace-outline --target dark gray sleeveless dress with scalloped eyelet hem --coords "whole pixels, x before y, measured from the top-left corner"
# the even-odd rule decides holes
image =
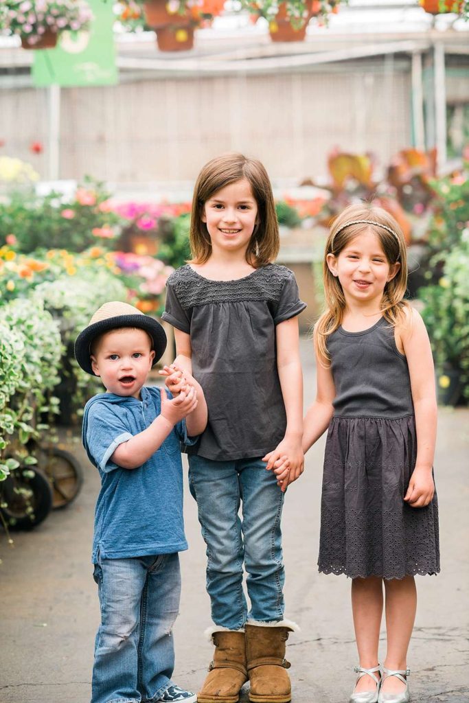
[[[319,571],[402,579],[439,572],[437,495],[404,503],[416,463],[406,357],[384,318],[328,338],[336,397],[324,459]]]

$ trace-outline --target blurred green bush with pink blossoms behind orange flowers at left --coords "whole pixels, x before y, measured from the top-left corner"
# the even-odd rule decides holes
[[[103,183],[85,179],[71,199],[60,193],[40,196],[13,192],[0,203],[0,245],[13,235],[18,249],[29,253],[38,248],[81,252],[117,236],[122,219],[111,212],[109,193]]]

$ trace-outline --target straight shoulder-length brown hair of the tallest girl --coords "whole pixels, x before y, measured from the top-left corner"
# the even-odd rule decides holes
[[[212,254],[207,225],[202,221],[205,202],[221,188],[246,179],[257,202],[257,223],[248,248],[246,261],[256,269],[274,261],[280,240],[274,194],[266,169],[260,161],[243,154],[222,154],[210,160],[195,182],[191,212],[191,263],[205,264]]]

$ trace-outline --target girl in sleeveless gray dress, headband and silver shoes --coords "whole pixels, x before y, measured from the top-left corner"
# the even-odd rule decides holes
[[[404,301],[406,245],[394,218],[373,205],[347,207],[330,230],[323,282],[317,396],[303,439],[307,451],[328,427],[319,571],[352,579],[359,678],[350,702],[405,703],[414,576],[439,572],[437,407],[425,325]]]

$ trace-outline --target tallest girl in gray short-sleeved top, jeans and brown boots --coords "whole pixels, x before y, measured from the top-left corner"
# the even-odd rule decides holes
[[[284,617],[280,520],[303,470],[297,315],[306,306],[292,271],[273,263],[278,243],[262,164],[240,154],[208,162],[193,196],[193,258],[169,277],[163,314],[177,350],[167,385],[177,392],[188,370],[209,411],[189,456],[216,647],[201,703],[235,703],[248,671],[252,700],[290,700],[285,640],[295,626]]]

